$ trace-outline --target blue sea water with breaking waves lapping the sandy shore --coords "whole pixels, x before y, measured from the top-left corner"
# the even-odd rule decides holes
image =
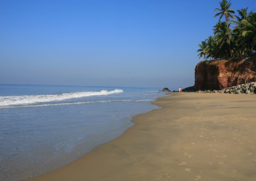
[[[64,166],[158,107],[159,88],[0,85],[0,180]]]

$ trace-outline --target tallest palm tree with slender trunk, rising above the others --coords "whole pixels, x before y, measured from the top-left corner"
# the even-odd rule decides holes
[[[220,4],[220,9],[216,8],[214,10],[215,11],[219,11],[219,13],[215,14],[214,17],[218,17],[220,16],[219,18],[219,21],[221,20],[221,18],[223,16],[225,16],[225,21],[226,21],[226,24],[227,24],[227,30],[228,30],[228,41],[229,41],[229,52],[230,52],[230,55],[231,55],[231,48],[230,48],[230,34],[229,34],[229,27],[228,27],[228,24],[229,24],[229,18],[233,19],[234,20],[234,17],[232,14],[235,13],[235,11],[233,9],[230,9],[230,6],[231,6],[231,3],[230,1],[227,2],[227,0],[222,0],[222,2],[219,2]]]

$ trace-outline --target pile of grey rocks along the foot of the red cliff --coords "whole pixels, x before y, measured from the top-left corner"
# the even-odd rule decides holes
[[[226,93],[226,94],[256,94],[256,83],[251,82],[238,86],[228,87],[220,91],[197,91],[197,93]]]

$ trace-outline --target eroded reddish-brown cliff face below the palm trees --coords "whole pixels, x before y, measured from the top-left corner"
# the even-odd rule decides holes
[[[249,59],[201,61],[195,68],[195,89],[223,89],[256,81],[256,56]]]

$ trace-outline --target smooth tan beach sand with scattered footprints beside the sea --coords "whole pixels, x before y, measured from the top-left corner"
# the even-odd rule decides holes
[[[256,96],[171,93],[162,109],[65,167],[29,180],[256,180]]]

